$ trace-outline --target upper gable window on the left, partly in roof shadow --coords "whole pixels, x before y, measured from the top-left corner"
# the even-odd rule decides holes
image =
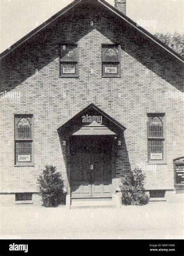
[[[78,48],[76,44],[61,46],[60,77],[78,77]]]

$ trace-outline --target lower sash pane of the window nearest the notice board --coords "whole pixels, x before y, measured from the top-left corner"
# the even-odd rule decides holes
[[[163,160],[163,140],[148,140],[149,160]]]

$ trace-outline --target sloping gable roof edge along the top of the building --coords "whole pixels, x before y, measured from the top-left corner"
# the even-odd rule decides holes
[[[45,28],[46,26],[48,26],[50,23],[52,23],[53,21],[55,21],[57,18],[61,17],[63,14],[65,14],[66,12],[68,12],[71,8],[73,8],[74,6],[78,5],[81,2],[84,1],[89,1],[89,0],[74,0],[71,4],[67,5],[64,9],[62,9],[61,11],[57,12],[54,16],[52,16],[50,19],[48,19],[47,21],[45,21],[44,23],[42,23],[40,26],[38,26],[37,28],[35,28],[34,30],[32,30],[30,33],[28,33],[26,36],[24,36],[22,39],[18,40],[15,44],[13,44],[10,49],[7,49],[5,51],[3,51],[0,54],[0,59],[2,59],[3,57],[5,57],[7,54],[9,54],[10,52],[14,51],[14,49],[16,49],[18,46],[20,46],[21,44],[23,44],[24,42],[26,42],[27,40],[29,40],[33,35],[35,35],[36,33],[38,33],[40,30],[42,30],[43,28]],[[117,16],[119,16],[120,18],[122,18],[125,22],[127,22],[129,25],[131,25],[132,27],[134,27],[136,30],[138,30],[139,32],[141,32],[142,34],[146,35],[147,38],[149,38],[150,40],[152,40],[153,42],[155,42],[158,46],[160,46],[161,48],[163,48],[165,51],[167,51],[168,53],[170,53],[172,56],[174,56],[175,58],[177,58],[178,60],[184,62],[184,58],[176,53],[175,51],[173,51],[170,47],[168,47],[167,45],[165,45],[163,42],[161,42],[159,39],[157,39],[156,37],[154,37],[154,35],[152,35],[151,33],[149,33],[147,30],[145,30],[142,27],[137,27],[137,24],[132,21],[132,19],[128,18],[126,15],[124,15],[122,12],[118,11],[115,7],[113,7],[112,5],[108,4],[105,0],[93,0],[92,2],[98,2],[99,4],[103,5],[104,7],[106,7],[107,9],[109,9],[109,11],[113,12],[114,14],[116,14]],[[90,3],[90,1],[89,1]]]

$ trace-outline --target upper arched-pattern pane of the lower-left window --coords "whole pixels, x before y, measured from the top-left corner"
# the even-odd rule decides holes
[[[16,118],[16,139],[31,139],[31,118]]]

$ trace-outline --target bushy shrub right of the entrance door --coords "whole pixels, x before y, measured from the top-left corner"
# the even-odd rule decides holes
[[[139,169],[131,170],[122,177],[122,203],[124,205],[145,205],[149,197],[144,190],[145,175]]]

